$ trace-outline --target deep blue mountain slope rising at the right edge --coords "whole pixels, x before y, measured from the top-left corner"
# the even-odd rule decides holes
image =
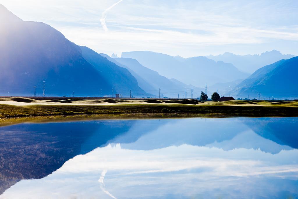
[[[237,97],[244,98],[297,98],[298,57],[280,60],[264,66],[241,82],[233,90]],[[237,94],[238,93],[238,94]],[[242,96],[242,97],[241,97]]]

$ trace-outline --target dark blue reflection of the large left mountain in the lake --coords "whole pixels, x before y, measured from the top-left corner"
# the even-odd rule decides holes
[[[20,179],[42,178],[103,146],[135,121],[18,124],[0,128],[0,194]],[[94,138],[90,142],[89,138]]]

